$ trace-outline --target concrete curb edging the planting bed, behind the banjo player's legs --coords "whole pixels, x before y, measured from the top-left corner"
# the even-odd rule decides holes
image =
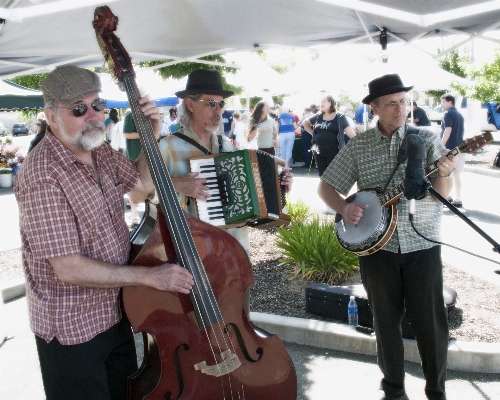
[[[285,342],[376,356],[375,336],[345,324],[250,312],[250,320]],[[403,339],[405,360],[420,363],[417,342]],[[450,341],[447,368],[454,371],[500,373],[500,343]]]

